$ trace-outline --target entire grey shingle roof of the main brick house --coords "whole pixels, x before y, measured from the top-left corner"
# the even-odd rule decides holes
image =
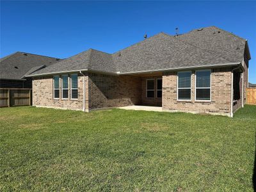
[[[243,61],[246,44],[243,38],[214,26],[178,36],[159,33],[113,54],[89,49],[29,76],[78,70],[131,74],[238,65]]]

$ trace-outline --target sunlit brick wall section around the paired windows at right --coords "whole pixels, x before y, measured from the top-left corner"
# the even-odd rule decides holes
[[[230,115],[231,68],[211,70],[211,102],[195,101],[195,71],[191,77],[191,101],[177,101],[177,72],[163,75],[163,110]]]

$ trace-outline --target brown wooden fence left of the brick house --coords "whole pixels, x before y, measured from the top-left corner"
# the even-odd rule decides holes
[[[30,105],[31,89],[0,88],[0,108]]]

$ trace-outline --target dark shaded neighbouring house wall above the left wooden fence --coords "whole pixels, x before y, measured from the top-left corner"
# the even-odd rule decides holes
[[[0,88],[32,88],[32,81],[4,80],[0,79]]]

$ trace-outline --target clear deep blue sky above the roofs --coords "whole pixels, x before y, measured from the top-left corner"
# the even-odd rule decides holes
[[[15,51],[68,58],[116,52],[160,31],[218,26],[248,40],[256,83],[255,1],[1,1],[1,57]]]

